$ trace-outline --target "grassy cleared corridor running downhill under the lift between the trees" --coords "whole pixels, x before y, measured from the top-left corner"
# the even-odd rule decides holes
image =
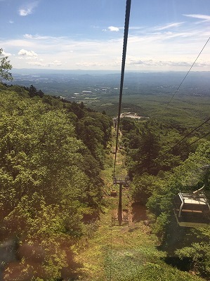
[[[114,136],[114,131],[113,131]],[[112,185],[112,150],[102,178],[105,181],[105,207],[98,222],[89,226],[89,238],[82,240],[77,249],[77,262],[82,264],[77,280],[82,281],[157,281],[203,280],[182,272],[164,262],[166,253],[157,249],[157,237],[146,226],[145,207],[132,208],[129,188],[122,190],[122,208],[128,219],[119,226],[117,221],[118,189]],[[117,155],[117,171],[124,168],[124,151]],[[115,188],[117,197],[111,197],[109,190]]]

